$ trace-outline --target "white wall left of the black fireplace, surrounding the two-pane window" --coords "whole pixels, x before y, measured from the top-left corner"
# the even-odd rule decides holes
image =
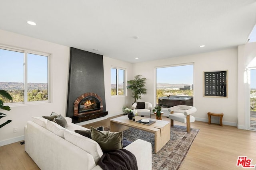
[[[5,118],[0,119],[0,124],[8,119],[12,120],[11,123],[0,129],[0,146],[2,146],[24,139],[24,126],[28,120],[31,120],[31,116],[42,117],[42,115],[50,115],[52,111],[66,115],[70,48],[3,30],[0,30],[0,45],[50,53],[52,56],[53,94],[52,103],[23,104],[20,106],[11,106],[10,111],[0,110],[0,112],[7,114]],[[12,63],[1,64],[9,64],[10,69],[12,68]],[[18,133],[13,133],[14,127],[18,127]]]

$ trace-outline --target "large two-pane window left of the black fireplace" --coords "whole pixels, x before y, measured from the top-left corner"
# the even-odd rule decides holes
[[[48,101],[48,54],[0,47],[0,89],[12,101],[4,103]]]

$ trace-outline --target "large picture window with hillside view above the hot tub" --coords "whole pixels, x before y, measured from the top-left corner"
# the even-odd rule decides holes
[[[193,96],[193,64],[156,68],[156,104],[167,96]]]

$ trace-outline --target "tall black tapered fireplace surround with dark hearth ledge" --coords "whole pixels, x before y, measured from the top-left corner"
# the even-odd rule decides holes
[[[80,109],[74,115],[74,102],[78,97],[90,93],[91,96],[81,98]],[[95,98],[94,94],[100,98],[100,101]],[[95,104],[86,104],[86,99],[95,102]],[[85,101],[86,102],[86,101]],[[82,106],[83,105],[83,106]],[[84,107],[90,106],[95,108],[86,109]],[[99,108],[100,107],[100,108]],[[67,117],[71,117],[73,123],[96,119],[98,117],[106,116],[105,103],[105,88],[104,88],[104,69],[103,56],[80,49],[70,48],[70,66],[69,66],[69,80],[68,80],[68,101],[67,101]]]

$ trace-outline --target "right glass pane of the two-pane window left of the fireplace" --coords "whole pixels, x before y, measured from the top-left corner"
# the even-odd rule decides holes
[[[28,102],[48,100],[48,57],[28,53]]]

